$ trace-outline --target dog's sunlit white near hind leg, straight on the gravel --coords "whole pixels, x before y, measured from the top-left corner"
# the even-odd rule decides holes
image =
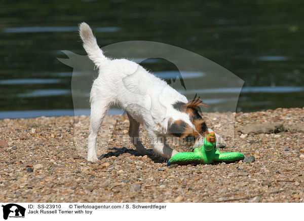
[[[105,100],[94,100],[91,103],[90,135],[88,144],[88,161],[98,161],[96,154],[97,135],[110,103]]]

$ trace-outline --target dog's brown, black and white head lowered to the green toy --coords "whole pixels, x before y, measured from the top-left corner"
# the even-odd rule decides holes
[[[178,120],[169,119],[167,133],[178,137],[180,144],[201,146],[204,144],[204,137],[209,133],[205,120],[198,112],[198,106],[209,107],[200,98],[189,100],[187,103],[176,101],[173,108],[180,114]]]

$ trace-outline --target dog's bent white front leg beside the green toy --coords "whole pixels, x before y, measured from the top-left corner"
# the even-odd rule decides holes
[[[178,151],[170,148],[164,136],[156,134],[153,131],[148,131],[148,135],[155,153],[160,154],[167,159],[170,159],[173,155],[178,153]]]

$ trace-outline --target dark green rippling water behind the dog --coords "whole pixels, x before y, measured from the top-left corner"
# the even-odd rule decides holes
[[[85,55],[78,24],[86,21],[103,47],[155,41],[202,55],[245,81],[237,112],[304,106],[304,3],[294,1],[6,2],[0,10],[0,118],[73,115],[72,68],[62,50]],[[134,60],[141,60],[140,57]],[[151,58],[141,63],[167,81],[179,72]],[[73,73],[75,75],[77,73]],[[238,88],[208,89],[203,71],[184,71],[184,94],[206,94],[224,112]],[[88,94],[85,94],[88,96]],[[89,114],[84,105],[76,114]],[[110,114],[121,113],[119,107]]]

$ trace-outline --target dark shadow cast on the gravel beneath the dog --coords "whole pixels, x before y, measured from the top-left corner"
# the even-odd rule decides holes
[[[99,160],[103,159],[103,158],[109,158],[112,156],[118,157],[120,155],[123,154],[131,154],[133,156],[139,157],[141,156],[137,151],[133,150],[133,149],[128,149],[128,148],[110,148],[108,153],[106,154],[102,154],[100,157],[98,157]],[[147,155],[148,158],[150,158],[154,163],[165,163],[167,162],[166,158],[163,158],[162,156],[156,155],[153,150],[148,149],[147,151],[149,151],[151,154]]]

